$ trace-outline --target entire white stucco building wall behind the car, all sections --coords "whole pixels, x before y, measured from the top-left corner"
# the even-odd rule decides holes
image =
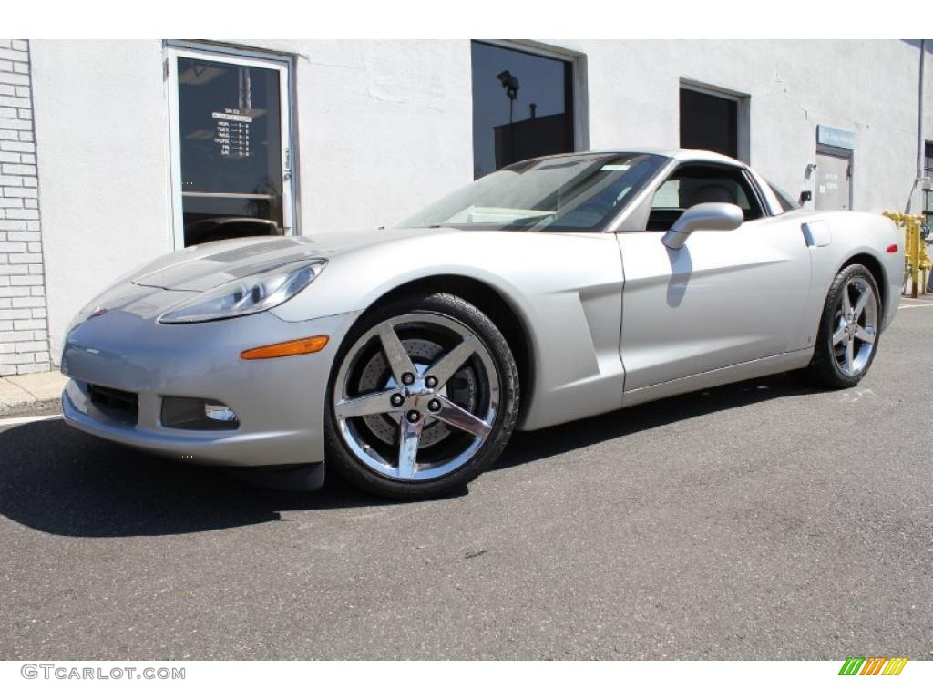
[[[750,161],[791,193],[812,187],[804,169],[816,125],[827,124],[856,133],[856,209],[907,203],[918,85],[910,44],[543,43],[586,57],[592,148],[677,146],[685,79],[750,96]],[[252,48],[297,56],[300,232],[391,226],[470,181],[468,41]],[[158,41],[35,41],[32,49],[55,358],[68,321],[94,293],[172,248],[168,83]],[[933,105],[928,112],[933,133]]]

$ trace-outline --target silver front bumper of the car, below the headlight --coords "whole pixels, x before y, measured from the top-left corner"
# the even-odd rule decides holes
[[[91,435],[186,462],[272,467],[324,461],[327,381],[355,314],[298,323],[270,313],[165,325],[124,311],[72,329],[63,351],[65,422]],[[327,335],[320,352],[244,360],[258,345]],[[89,385],[138,399],[132,419],[91,400]],[[239,427],[189,430],[161,423],[165,397],[211,399],[237,413]]]

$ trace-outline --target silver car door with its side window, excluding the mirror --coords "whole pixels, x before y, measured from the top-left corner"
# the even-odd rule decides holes
[[[744,168],[689,162],[653,195],[645,231],[618,233],[625,391],[800,349],[810,257],[799,222],[769,216]],[[689,206],[735,203],[734,231],[661,236]]]

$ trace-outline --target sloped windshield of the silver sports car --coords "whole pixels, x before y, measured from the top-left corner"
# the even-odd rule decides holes
[[[444,197],[400,228],[605,231],[667,161],[645,153],[523,161]]]

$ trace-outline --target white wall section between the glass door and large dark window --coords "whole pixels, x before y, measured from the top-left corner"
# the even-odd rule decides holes
[[[472,180],[468,41],[260,41],[297,54],[303,232],[393,226]]]

